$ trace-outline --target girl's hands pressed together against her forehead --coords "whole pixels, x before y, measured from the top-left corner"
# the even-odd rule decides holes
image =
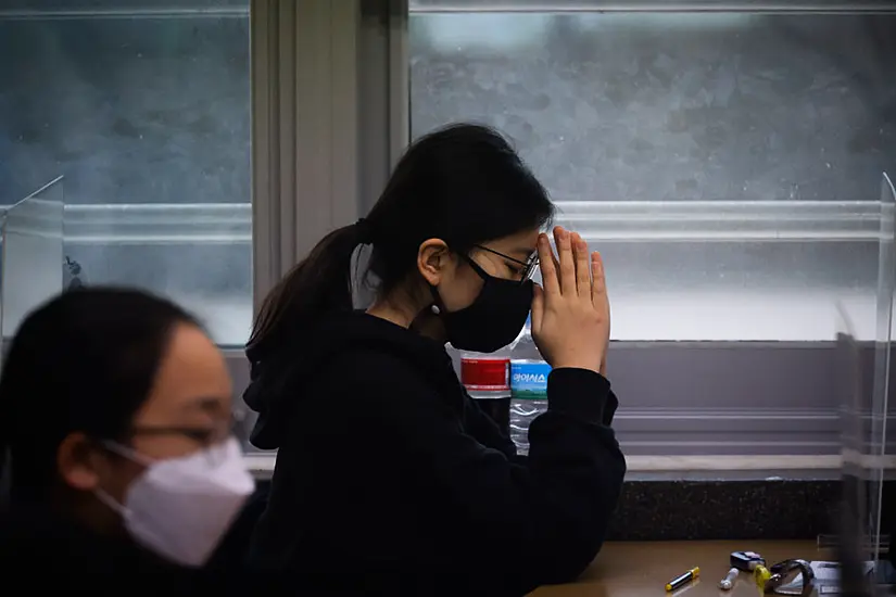
[[[554,229],[558,257],[547,234],[539,237],[544,288],[535,287],[532,338],[554,368],[603,372],[609,344],[609,300],[600,253],[589,255],[578,233]]]

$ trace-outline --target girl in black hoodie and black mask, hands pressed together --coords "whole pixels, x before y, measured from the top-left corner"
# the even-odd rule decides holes
[[[449,126],[414,142],[369,215],[272,291],[247,347],[252,442],[279,448],[253,568],[367,592],[522,594],[589,566],[626,461],[604,376],[603,264],[561,228],[555,256],[540,233],[553,212],[501,135]],[[365,245],[376,300],[361,312],[353,255]],[[496,351],[530,308],[554,369],[522,457],[445,344]]]

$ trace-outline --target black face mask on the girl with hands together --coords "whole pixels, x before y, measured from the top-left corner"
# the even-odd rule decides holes
[[[472,259],[467,258],[467,262],[485,282],[470,306],[446,312],[434,287],[432,294],[442,309],[442,321],[452,346],[462,351],[493,353],[516,340],[526,325],[532,308],[534,282],[495,278]]]

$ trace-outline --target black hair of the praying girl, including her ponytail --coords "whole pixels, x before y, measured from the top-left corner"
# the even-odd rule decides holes
[[[352,257],[373,251],[367,274],[388,294],[416,268],[420,243],[438,238],[453,251],[540,228],[553,217],[544,187],[500,132],[455,124],[413,142],[366,218],[339,228],[267,295],[247,344],[253,364],[289,343],[302,322],[351,309]]]

